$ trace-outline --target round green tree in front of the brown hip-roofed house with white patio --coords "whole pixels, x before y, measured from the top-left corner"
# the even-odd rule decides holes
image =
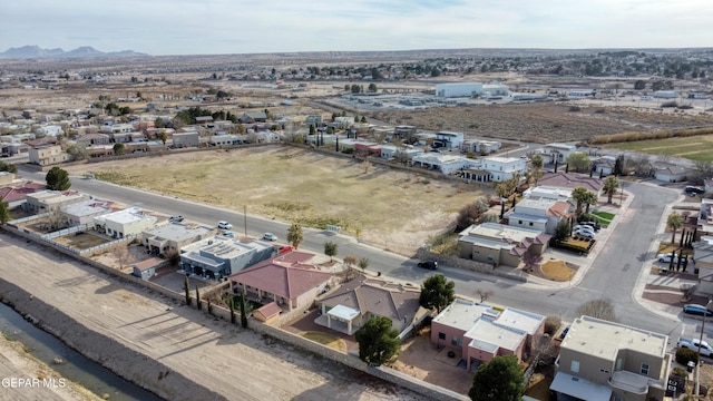
[[[399,331],[391,327],[391,320],[384,316],[371,317],[354,334],[359,343],[359,359],[370,366],[379,366],[395,361],[401,351]]]

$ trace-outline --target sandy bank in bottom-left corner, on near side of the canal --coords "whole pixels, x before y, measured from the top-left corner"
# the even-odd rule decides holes
[[[26,353],[22,350],[22,344],[8,341],[4,336],[0,336],[0,379],[2,380],[0,400],[100,400],[88,390],[61,378],[50,366]],[[32,379],[46,380],[48,385],[33,383],[30,387],[26,385],[26,382],[20,383],[20,380]]]

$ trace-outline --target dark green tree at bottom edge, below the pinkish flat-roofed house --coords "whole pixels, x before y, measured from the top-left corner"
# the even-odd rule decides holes
[[[478,368],[468,397],[472,401],[520,401],[525,374],[515,355],[495,356]]]

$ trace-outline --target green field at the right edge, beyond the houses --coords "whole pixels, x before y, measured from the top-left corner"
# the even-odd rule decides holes
[[[607,144],[603,147],[651,155],[684,157],[692,160],[713,162],[713,135],[617,143]]]

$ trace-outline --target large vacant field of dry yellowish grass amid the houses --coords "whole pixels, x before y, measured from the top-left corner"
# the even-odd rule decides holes
[[[466,204],[492,190],[283,146],[201,151],[67,167],[97,178],[320,227],[412,255]],[[277,236],[285,234],[276,233]]]

